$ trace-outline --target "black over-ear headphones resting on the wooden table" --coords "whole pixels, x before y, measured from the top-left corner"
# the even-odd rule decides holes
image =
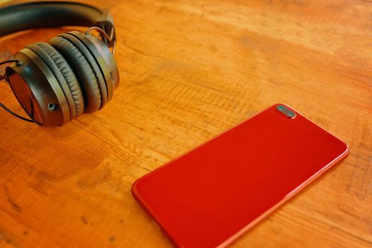
[[[0,36],[32,28],[87,26],[34,43],[16,52],[6,67],[13,94],[39,125],[64,125],[81,113],[93,113],[108,103],[119,84],[113,59],[115,28],[107,11],[66,1],[40,1],[0,9]],[[101,39],[91,35],[98,30]],[[112,52],[111,50],[112,49]]]

